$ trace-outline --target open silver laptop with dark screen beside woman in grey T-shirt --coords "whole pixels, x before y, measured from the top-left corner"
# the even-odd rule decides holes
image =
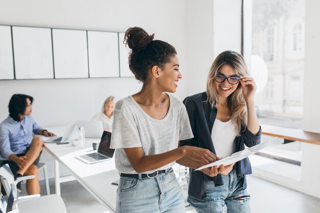
[[[97,152],[76,156],[75,158],[85,163],[97,163],[110,160],[113,157],[113,153],[115,153],[114,149],[110,149],[110,143],[111,132],[104,131]]]

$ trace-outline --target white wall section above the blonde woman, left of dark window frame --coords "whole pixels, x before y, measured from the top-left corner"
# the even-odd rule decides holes
[[[226,50],[241,53],[241,0],[186,1],[188,96],[206,90],[210,67]]]

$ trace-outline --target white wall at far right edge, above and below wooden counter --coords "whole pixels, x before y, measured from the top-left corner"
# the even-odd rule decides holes
[[[306,46],[304,73],[303,130],[320,133],[320,2],[306,1]],[[303,144],[303,187],[307,194],[320,198],[320,146]]]

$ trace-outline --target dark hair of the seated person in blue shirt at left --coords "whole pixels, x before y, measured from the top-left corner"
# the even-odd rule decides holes
[[[27,108],[27,99],[30,99],[31,104],[33,98],[27,94],[14,94],[9,101],[9,115],[13,120],[19,122],[19,114],[24,114]]]

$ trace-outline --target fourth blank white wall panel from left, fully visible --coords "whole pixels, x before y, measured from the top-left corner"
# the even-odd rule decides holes
[[[87,31],[90,78],[120,77],[118,33]]]

